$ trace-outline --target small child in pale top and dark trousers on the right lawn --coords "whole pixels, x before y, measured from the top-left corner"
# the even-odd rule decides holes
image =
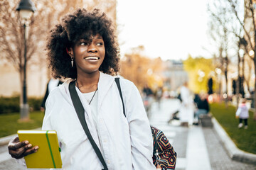
[[[245,129],[248,128],[247,120],[249,118],[249,111],[246,106],[246,99],[242,98],[242,103],[238,107],[238,111],[235,113],[235,118],[239,118],[238,128],[242,128],[242,121],[245,123]]]

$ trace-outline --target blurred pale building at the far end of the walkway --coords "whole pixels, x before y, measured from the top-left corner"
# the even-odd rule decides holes
[[[171,91],[176,91],[185,81],[188,81],[188,74],[183,69],[181,60],[166,60],[164,65],[164,86]]]

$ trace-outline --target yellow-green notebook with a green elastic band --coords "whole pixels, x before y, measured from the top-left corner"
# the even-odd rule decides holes
[[[25,158],[28,168],[55,168],[62,167],[60,148],[55,130],[18,130],[20,141],[28,140],[33,147],[38,145],[38,152],[28,154]]]

